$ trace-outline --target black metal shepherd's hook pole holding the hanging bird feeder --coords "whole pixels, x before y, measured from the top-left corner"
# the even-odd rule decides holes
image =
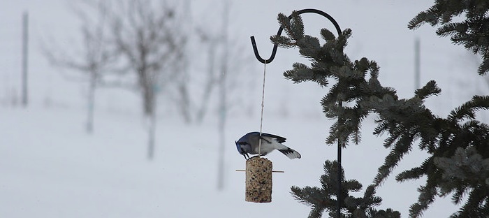
[[[333,17],[331,17],[330,15],[328,15],[327,13],[323,12],[322,10],[317,10],[317,9],[302,9],[302,10],[298,10],[295,12],[296,15],[300,15],[302,13],[316,13],[316,14],[319,14],[319,15],[323,15],[323,17],[326,17],[328,18],[328,20],[330,20],[330,22],[333,23],[333,25],[335,25],[335,29],[336,31],[338,32],[338,36],[341,36],[342,35],[342,31],[340,29],[340,25],[338,25],[338,23],[336,22],[335,19],[333,19]],[[293,15],[293,14],[292,14]],[[292,15],[289,16],[289,18],[292,18]],[[277,31],[277,36],[280,36],[280,34],[282,34],[282,30],[284,30],[284,27],[280,27],[279,28],[279,31]],[[251,36],[251,45],[253,46],[253,52],[255,53],[255,57],[256,59],[258,59],[258,61],[260,61],[261,63],[263,64],[269,64],[270,62],[273,61],[273,59],[275,58],[275,54],[277,54],[277,48],[278,48],[278,45],[275,44],[273,45],[273,49],[272,49],[272,54],[270,55],[270,58],[268,59],[263,59],[260,57],[260,54],[258,54],[258,48],[256,48],[256,41],[255,41],[255,37],[254,36]],[[340,108],[343,108],[342,106],[342,101],[338,101],[338,106],[340,106]],[[341,115],[338,116],[338,123],[340,124],[341,122]],[[342,148],[343,148],[343,144],[342,144],[342,141],[340,139],[338,139],[338,157],[337,157],[337,163],[338,163],[338,190],[337,190],[337,211],[336,211],[336,215],[338,218],[341,217],[341,206],[342,206],[342,203],[340,201],[340,197],[341,197],[341,194],[342,194]]]

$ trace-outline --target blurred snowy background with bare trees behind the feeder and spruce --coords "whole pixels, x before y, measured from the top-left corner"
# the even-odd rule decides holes
[[[430,1],[144,1],[0,0],[0,217],[306,217],[292,185],[319,185],[330,124],[319,101],[328,91],[293,84],[282,73],[309,64],[279,48],[266,66],[263,131],[287,138],[302,159],[267,157],[276,170],[272,203],[245,202],[245,160],[235,149],[259,131],[263,58],[278,13],[316,8],[353,36],[351,59],[381,67],[379,80],[411,98],[436,80],[441,95],[426,105],[445,117],[489,83],[479,57],[429,26],[407,22]],[[302,15],[306,34],[333,30],[324,17]],[[485,121],[487,115],[481,113]],[[372,136],[344,150],[346,179],[366,187],[388,150]],[[417,166],[413,151],[396,172]],[[379,208],[407,217],[414,181],[393,177],[378,191]],[[441,199],[425,217],[457,210]]]

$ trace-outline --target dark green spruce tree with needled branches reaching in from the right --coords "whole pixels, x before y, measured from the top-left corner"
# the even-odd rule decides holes
[[[488,3],[467,1],[473,4],[458,3],[457,6],[467,8],[455,10],[448,2],[451,1],[437,1],[430,10],[416,16],[409,27],[418,27],[423,22],[453,26],[452,30],[448,26],[441,27],[443,31],[438,32],[441,36],[452,35],[454,43],[462,43],[480,53],[483,63],[479,73],[486,73],[489,22],[483,20],[488,19]],[[467,20],[460,25],[470,27],[465,33],[462,27],[455,27],[458,24],[448,23],[451,17],[464,12]],[[476,15],[479,17],[474,18]],[[378,117],[374,135],[388,136],[384,147],[391,152],[379,167],[373,184],[366,189],[364,198],[349,196],[349,192],[359,191],[361,184],[342,178],[345,185],[341,190],[345,197],[340,199],[342,217],[400,217],[391,209],[374,210],[373,207],[380,203],[374,191],[391,175],[404,155],[413,150],[415,141],[418,149],[429,154],[428,159],[395,177],[398,182],[426,178],[425,184],[418,188],[418,202],[411,205],[409,216],[421,217],[435,201],[435,196],[450,195],[453,203],[461,204],[460,210],[451,217],[489,216],[489,126],[476,120],[476,111],[489,109],[489,96],[474,96],[452,110],[448,117],[439,117],[424,105],[425,99],[441,93],[435,81],[417,89],[410,99],[400,99],[395,89],[379,82],[379,66],[375,61],[365,57],[351,61],[344,54],[350,29],[344,29],[337,37],[328,29],[321,29],[321,37],[326,41],[321,45],[318,38],[304,34],[302,19],[295,11],[290,18],[279,14],[278,21],[287,36],[272,36],[272,42],[282,48],[298,48],[300,55],[311,61],[310,65],[293,64],[284,76],[293,82],[316,82],[321,87],[328,86],[330,80],[335,82],[321,99],[326,117],[337,120],[330,128],[326,143],[339,142],[345,146],[360,143],[361,122],[370,113]],[[350,106],[342,106],[341,102]],[[330,212],[330,217],[335,217],[336,206],[332,203],[335,198],[332,196],[337,191],[337,170],[334,164],[326,161],[321,188],[291,188],[295,198],[312,207],[309,217],[321,217],[324,210]],[[464,196],[467,198],[462,203]],[[358,211],[362,211],[361,215],[356,214]]]

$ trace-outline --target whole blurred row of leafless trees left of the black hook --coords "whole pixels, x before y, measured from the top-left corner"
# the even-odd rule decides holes
[[[219,30],[210,30],[200,20],[189,20],[191,1],[78,0],[71,9],[80,20],[82,51],[71,54],[66,46],[48,42],[43,52],[53,66],[79,71],[86,79],[86,130],[94,131],[95,96],[100,87],[135,90],[148,129],[148,157],[154,156],[157,107],[174,105],[187,123],[203,122],[214,103],[219,129],[224,129],[230,99],[246,93],[233,92],[238,82],[239,63],[247,58],[240,45],[228,36],[228,6],[214,20]],[[225,17],[225,21],[222,17]],[[193,24],[196,22],[196,24]],[[215,29],[215,28],[214,28]],[[198,45],[198,46],[196,46]],[[197,47],[197,48],[194,48]],[[201,54],[198,56],[198,54]],[[251,53],[250,53],[251,54]],[[204,57],[204,58],[202,58]],[[204,60],[195,71],[193,61]],[[223,61],[224,60],[224,61]],[[228,71],[233,60],[234,71]],[[241,69],[241,70],[240,70]],[[198,78],[191,87],[192,79]],[[158,102],[165,95],[166,102]]]

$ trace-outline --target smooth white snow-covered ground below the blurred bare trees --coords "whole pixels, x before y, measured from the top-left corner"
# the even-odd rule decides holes
[[[245,167],[245,160],[233,140],[254,129],[254,121],[230,120],[226,187],[217,191],[212,123],[199,127],[161,120],[156,159],[147,161],[146,134],[137,118],[100,112],[98,131],[89,136],[79,125],[80,110],[34,105],[0,112],[1,217],[305,217],[308,208],[291,198],[289,188],[318,184],[323,161],[336,154],[323,144],[321,136],[330,123],[326,119],[270,116],[266,129],[288,136],[286,144],[299,150],[302,159],[269,154],[274,168],[286,171],[274,175],[272,203],[246,203],[245,175],[235,172]],[[364,142],[344,150],[343,161],[346,177],[367,185],[386,150],[367,134]],[[403,165],[414,166],[420,157],[407,158]],[[389,180],[379,189],[382,206],[402,210],[416,199],[415,190],[416,182]],[[448,212],[438,208],[435,214]]]

